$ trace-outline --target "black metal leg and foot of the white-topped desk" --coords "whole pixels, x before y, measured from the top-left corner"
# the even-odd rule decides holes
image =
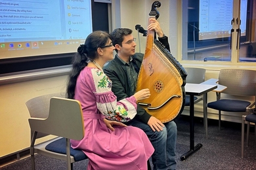
[[[203,144],[198,143],[194,146],[194,95],[190,95],[190,150],[182,154],[181,160],[184,161],[190,155],[194,154],[197,150],[202,148]]]

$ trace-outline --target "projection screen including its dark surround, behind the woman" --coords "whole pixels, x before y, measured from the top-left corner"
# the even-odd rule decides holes
[[[0,78],[68,67],[89,33],[109,32],[109,7],[94,0],[0,1]]]

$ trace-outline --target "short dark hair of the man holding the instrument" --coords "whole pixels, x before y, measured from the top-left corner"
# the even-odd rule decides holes
[[[117,29],[114,29],[114,31],[112,33],[110,33],[112,44],[114,46],[116,44],[119,44],[120,46],[122,46],[123,37],[125,35],[130,35],[131,33],[133,33],[133,30],[131,30],[129,28],[117,28]],[[117,49],[116,49],[116,52],[118,52]]]

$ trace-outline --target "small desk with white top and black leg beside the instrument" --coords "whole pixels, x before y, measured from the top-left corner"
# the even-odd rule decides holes
[[[191,84],[186,83],[185,92],[190,95],[190,150],[185,154],[182,154],[181,160],[186,160],[188,156],[202,148],[203,144],[198,143],[194,146],[194,95],[203,95],[203,103],[207,103],[207,93],[217,88],[217,85],[210,84]],[[205,116],[205,115],[204,115]]]

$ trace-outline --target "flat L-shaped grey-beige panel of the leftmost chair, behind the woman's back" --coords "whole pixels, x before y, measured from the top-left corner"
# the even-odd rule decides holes
[[[74,99],[52,97],[47,118],[29,118],[32,131],[81,140],[84,136],[81,103]]]

